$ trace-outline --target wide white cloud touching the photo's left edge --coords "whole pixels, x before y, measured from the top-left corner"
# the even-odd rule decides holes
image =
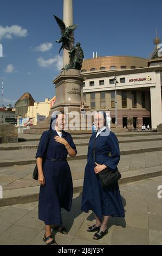
[[[0,39],[2,38],[12,38],[12,36],[22,36],[25,37],[28,35],[28,31],[25,28],[22,28],[18,25],[12,25],[11,27],[5,26],[2,27],[0,26]]]

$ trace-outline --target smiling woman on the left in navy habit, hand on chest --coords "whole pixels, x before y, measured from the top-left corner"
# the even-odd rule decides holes
[[[70,211],[72,206],[73,182],[67,155],[75,157],[77,151],[72,136],[63,130],[65,124],[66,115],[53,112],[50,129],[42,133],[35,156],[41,184],[38,218],[46,225],[43,240],[47,245],[56,244],[51,228],[68,233],[62,226],[61,208]]]

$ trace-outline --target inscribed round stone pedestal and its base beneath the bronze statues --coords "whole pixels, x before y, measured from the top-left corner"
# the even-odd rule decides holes
[[[82,84],[84,78],[80,74],[80,70],[67,69],[55,78],[53,83],[56,90],[56,102],[49,112],[46,120],[39,122],[37,125],[30,126],[30,130],[24,130],[24,133],[41,134],[49,129],[51,114],[54,111],[63,111],[68,114],[68,129],[71,134],[92,133],[92,121],[81,117],[80,105],[82,99]],[[90,111],[85,105],[85,111]],[[73,122],[74,120],[74,122]],[[70,125],[74,123],[73,125]]]

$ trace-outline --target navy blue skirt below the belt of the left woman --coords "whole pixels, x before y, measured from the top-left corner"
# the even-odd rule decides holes
[[[43,163],[45,186],[40,186],[38,218],[46,225],[62,225],[61,208],[70,211],[73,199],[73,181],[67,161]]]

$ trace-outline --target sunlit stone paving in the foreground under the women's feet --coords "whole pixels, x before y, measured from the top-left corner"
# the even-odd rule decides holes
[[[62,209],[63,225],[69,233],[62,235],[55,231],[56,242],[74,246],[162,245],[162,198],[158,199],[158,212],[154,211],[157,185],[162,185],[162,176],[119,185],[126,217],[111,217],[108,234],[99,241],[93,240],[93,233],[86,231],[95,221],[91,211],[85,213],[80,209],[82,193],[74,194],[71,211]],[[149,191],[154,195],[151,202],[148,199]],[[37,205],[38,202],[34,202],[0,208],[0,245],[46,245],[42,240],[44,224],[38,220]]]

